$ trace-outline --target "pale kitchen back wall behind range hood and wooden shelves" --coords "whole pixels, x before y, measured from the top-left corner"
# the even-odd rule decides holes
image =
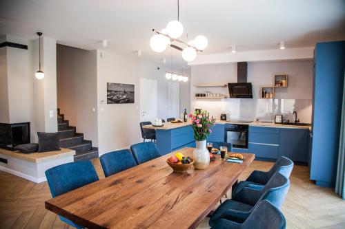
[[[273,74],[286,72],[288,74],[288,87],[278,88],[275,98],[311,100],[313,97],[313,61],[270,61],[248,63],[248,82],[253,84],[253,101],[259,98],[259,88],[265,85],[273,85]],[[213,93],[228,96],[228,87],[195,87],[195,85],[213,83],[226,84],[237,82],[237,63],[215,65],[193,65],[191,67],[191,103],[190,108],[201,107],[210,111],[212,116],[219,118],[220,113],[226,110],[221,100],[196,100],[196,93],[212,91]],[[243,102],[243,106],[249,106],[250,102]],[[306,102],[303,116],[311,118],[310,102]],[[245,107],[244,107],[245,109]],[[301,114],[302,114],[301,113]],[[310,116],[310,117],[309,117]],[[241,117],[239,117],[241,118]]]

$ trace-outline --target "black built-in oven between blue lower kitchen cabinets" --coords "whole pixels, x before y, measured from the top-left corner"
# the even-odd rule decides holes
[[[224,142],[235,148],[248,149],[248,127],[247,124],[225,124]]]

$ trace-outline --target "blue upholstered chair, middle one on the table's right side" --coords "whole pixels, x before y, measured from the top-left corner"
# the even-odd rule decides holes
[[[259,190],[244,187],[237,193],[233,199],[227,199],[221,204],[210,217],[208,222],[211,227],[215,226],[215,222],[223,217],[223,215],[234,215],[235,221],[242,223],[254,206],[266,199],[274,206],[280,208],[284,202],[290,182],[282,173],[275,173],[267,184]]]

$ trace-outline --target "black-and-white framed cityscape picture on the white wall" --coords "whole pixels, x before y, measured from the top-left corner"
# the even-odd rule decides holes
[[[134,85],[107,83],[107,104],[134,103]]]

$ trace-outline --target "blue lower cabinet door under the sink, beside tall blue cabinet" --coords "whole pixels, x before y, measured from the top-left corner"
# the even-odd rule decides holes
[[[308,129],[280,128],[279,156],[294,162],[308,162]]]

